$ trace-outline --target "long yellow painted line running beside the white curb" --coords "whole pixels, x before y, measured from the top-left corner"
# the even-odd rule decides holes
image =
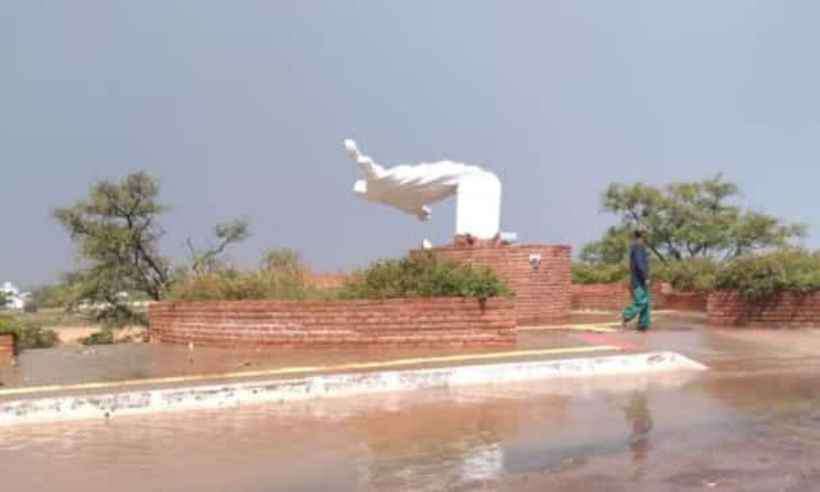
[[[152,384],[169,384],[169,383],[188,383],[194,381],[207,381],[213,379],[231,379],[231,378],[253,378],[260,376],[281,376],[286,374],[304,374],[317,372],[334,372],[345,370],[360,370],[360,369],[378,369],[386,367],[400,367],[411,366],[416,364],[434,364],[440,362],[464,362],[471,360],[491,360],[504,359],[508,357],[521,357],[533,355],[564,355],[577,354],[586,352],[611,352],[620,351],[621,348],[598,345],[591,347],[565,347],[555,349],[541,349],[541,350],[517,350],[513,352],[495,352],[489,354],[465,354],[465,355],[449,355],[442,357],[419,357],[414,359],[396,359],[376,362],[360,362],[353,364],[342,364],[336,366],[303,366],[303,367],[283,367],[280,369],[269,369],[264,371],[246,371],[246,372],[229,372],[222,374],[200,374],[194,376],[175,376],[167,378],[153,378],[153,379],[133,379],[120,382],[105,382],[105,383],[84,383],[71,385],[52,385],[52,386],[32,386],[27,388],[9,388],[0,390],[0,396],[13,395],[29,395],[35,393],[45,393],[49,391],[74,391],[74,390],[96,390],[106,388],[122,388],[128,386],[143,386]]]

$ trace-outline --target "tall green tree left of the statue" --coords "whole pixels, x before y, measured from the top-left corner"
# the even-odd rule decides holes
[[[158,181],[144,172],[120,182],[100,181],[87,198],[54,211],[71,235],[81,259],[80,270],[67,278],[77,299],[110,306],[106,316],[128,317],[123,292],[142,292],[160,300],[171,280],[170,261],[159,253],[164,231],[158,217]]]

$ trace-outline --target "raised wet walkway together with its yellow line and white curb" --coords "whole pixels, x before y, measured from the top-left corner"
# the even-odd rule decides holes
[[[29,351],[5,371],[9,384],[0,388],[0,421],[214,408],[464,381],[703,369],[646,345],[643,334],[614,328],[610,315],[576,318],[581,322],[560,328],[522,329],[514,350],[232,351],[128,344]],[[669,326],[680,328],[681,322],[673,317]],[[660,323],[658,329],[669,327]]]

